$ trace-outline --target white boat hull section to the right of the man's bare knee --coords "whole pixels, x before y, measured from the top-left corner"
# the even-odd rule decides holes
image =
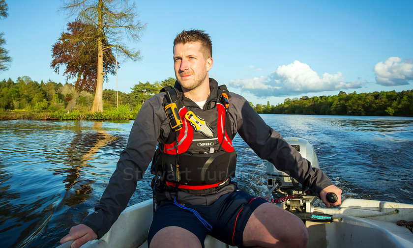
[[[413,220],[413,205],[346,199],[339,208],[315,208],[332,223],[307,221],[309,248],[413,248],[413,233],[398,220]]]

